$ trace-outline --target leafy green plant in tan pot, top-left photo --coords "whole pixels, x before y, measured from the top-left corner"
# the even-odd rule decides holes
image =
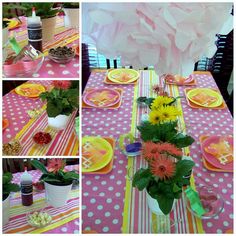
[[[42,21],[43,41],[53,40],[56,26],[56,16],[62,12],[61,8],[53,8],[54,3],[36,2],[36,3],[21,3],[20,9],[28,17],[32,15],[32,8],[35,7],[36,15],[40,16]]]

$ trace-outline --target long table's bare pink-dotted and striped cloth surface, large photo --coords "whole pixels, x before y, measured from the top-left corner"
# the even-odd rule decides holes
[[[217,172],[205,167],[200,137],[204,135],[233,136],[233,118],[224,103],[220,109],[191,107],[185,96],[187,88],[218,87],[208,71],[194,71],[195,84],[177,86],[166,84],[165,90],[172,97],[180,96],[176,106],[182,115],[178,124],[195,142],[183,149],[195,162],[191,175],[191,187],[209,187],[224,202],[221,213],[209,219],[196,217],[186,206],[184,191],[168,215],[155,215],[148,207],[146,192],[132,187],[132,176],[146,162],[141,155],[127,157],[119,148],[119,138],[132,133],[139,137],[137,125],[148,113],[147,106],[137,103],[138,97],[156,97],[153,86],[163,85],[161,76],[154,70],[140,70],[137,83],[104,83],[107,70],[93,70],[86,84],[83,97],[89,89],[122,89],[121,106],[116,109],[82,109],[82,136],[111,137],[116,141],[112,170],[107,174],[82,173],[82,230],[97,233],[153,233],[153,225],[163,225],[165,233],[214,233],[233,231],[233,173]],[[83,154],[82,154],[83,155]]]

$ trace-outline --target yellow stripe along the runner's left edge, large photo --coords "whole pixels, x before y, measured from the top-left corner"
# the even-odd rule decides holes
[[[133,111],[132,111],[132,121],[131,121],[131,133],[135,135],[136,129],[136,115],[137,115],[137,98],[138,98],[138,83],[134,86],[134,98],[133,98]],[[127,170],[133,167],[134,158],[128,157]],[[128,173],[128,172],[127,172]],[[124,201],[124,212],[123,212],[123,224],[122,233],[129,233],[129,214],[130,214],[130,198],[132,192],[132,182],[126,179],[126,190],[125,190],[125,201]]]

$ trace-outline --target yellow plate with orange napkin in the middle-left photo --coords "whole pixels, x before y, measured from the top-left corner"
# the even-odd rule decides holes
[[[15,92],[21,96],[28,98],[36,98],[46,89],[41,84],[22,84],[15,88]]]

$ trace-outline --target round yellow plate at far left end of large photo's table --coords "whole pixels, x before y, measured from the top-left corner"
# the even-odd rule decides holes
[[[133,69],[114,69],[108,73],[108,79],[117,84],[132,83],[139,78],[139,72]],[[121,77],[126,80],[121,80]]]

